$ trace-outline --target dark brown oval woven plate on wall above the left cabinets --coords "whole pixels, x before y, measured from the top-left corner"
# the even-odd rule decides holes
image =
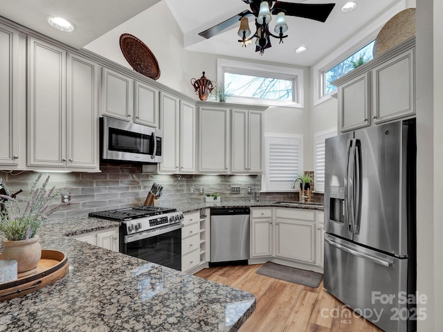
[[[137,37],[124,33],[120,36],[120,48],[127,62],[135,71],[152,80],[159,80],[160,68],[154,53]]]

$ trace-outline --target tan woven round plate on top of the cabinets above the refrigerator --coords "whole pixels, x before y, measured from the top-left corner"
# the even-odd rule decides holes
[[[415,36],[415,8],[402,10],[381,28],[372,55],[377,57],[406,39]]]

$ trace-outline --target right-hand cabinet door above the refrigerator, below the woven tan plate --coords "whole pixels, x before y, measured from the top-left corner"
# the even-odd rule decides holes
[[[415,114],[414,61],[412,48],[372,71],[374,123]]]

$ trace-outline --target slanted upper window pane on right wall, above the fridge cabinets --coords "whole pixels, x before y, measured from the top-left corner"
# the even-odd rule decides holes
[[[323,86],[323,95],[329,95],[329,93],[336,91],[337,87],[331,84],[332,81],[349,73],[352,69],[356,68],[356,66],[372,59],[372,48],[374,48],[374,43],[375,40],[368,45],[363,46],[357,50],[356,53],[350,55],[350,57],[347,57],[342,62],[323,73],[323,82],[325,84]]]

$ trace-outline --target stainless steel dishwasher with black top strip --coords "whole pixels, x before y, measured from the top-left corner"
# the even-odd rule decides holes
[[[249,208],[210,209],[210,266],[248,264]]]

